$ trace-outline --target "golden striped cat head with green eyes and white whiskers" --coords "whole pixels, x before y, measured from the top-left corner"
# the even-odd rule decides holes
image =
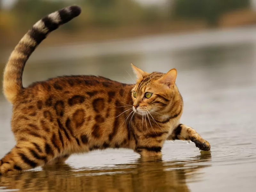
[[[171,69],[166,74],[147,73],[132,65],[137,83],[132,89],[133,111],[137,114],[165,113],[170,109],[173,97],[177,93],[175,80],[177,70]]]

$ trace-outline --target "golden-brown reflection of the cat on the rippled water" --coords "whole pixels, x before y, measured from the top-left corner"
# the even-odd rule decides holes
[[[68,164],[0,178],[0,186],[20,191],[190,191],[187,180],[197,180],[199,170],[211,166],[211,154],[184,161],[139,158],[114,168],[75,169]]]

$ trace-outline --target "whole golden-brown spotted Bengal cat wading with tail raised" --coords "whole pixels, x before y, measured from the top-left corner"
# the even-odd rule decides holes
[[[131,148],[141,156],[161,156],[165,140],[210,144],[180,124],[183,101],[176,69],[147,73],[132,65],[136,84],[101,76],[62,76],[24,88],[26,61],[45,37],[81,12],[70,6],[39,20],[20,40],[4,70],[4,95],[13,105],[16,145],[0,160],[0,174],[64,162],[71,154]]]

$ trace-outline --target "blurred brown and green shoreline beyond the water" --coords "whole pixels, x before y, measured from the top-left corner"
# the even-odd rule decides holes
[[[136,0],[18,0],[11,9],[0,7],[1,44],[17,41],[41,17],[72,4],[80,5],[82,14],[58,30],[62,41],[74,34],[86,41],[256,23],[250,0],[166,0],[161,6]],[[57,41],[55,36],[52,42]]]

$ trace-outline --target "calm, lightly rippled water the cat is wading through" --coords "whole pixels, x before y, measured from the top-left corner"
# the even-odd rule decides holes
[[[65,165],[0,177],[0,191],[254,191],[255,34],[256,29],[245,28],[108,42],[109,50],[102,48],[98,55],[88,54],[87,45],[72,45],[62,48],[64,59],[55,48],[39,48],[25,68],[25,85],[64,74],[101,75],[130,83],[131,62],[148,72],[177,68],[176,83],[184,99],[181,122],[208,140],[211,152],[182,141],[166,141],[161,159],[140,158],[124,149],[94,151],[73,155]],[[137,41],[144,44],[134,51]],[[0,106],[2,157],[15,143],[11,106],[2,95]]]

